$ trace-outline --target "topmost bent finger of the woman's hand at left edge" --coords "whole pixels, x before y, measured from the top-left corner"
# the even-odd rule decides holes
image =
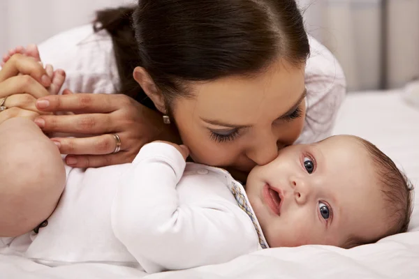
[[[30,75],[43,86],[51,85],[51,79],[47,72],[41,65],[29,56],[22,54],[15,54],[4,64],[0,70],[0,82],[7,80],[10,77],[15,77],[17,74]]]

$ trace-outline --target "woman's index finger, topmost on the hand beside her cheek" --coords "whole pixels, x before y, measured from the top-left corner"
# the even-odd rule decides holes
[[[38,110],[45,112],[109,113],[128,104],[124,95],[77,93],[45,96],[36,102]]]

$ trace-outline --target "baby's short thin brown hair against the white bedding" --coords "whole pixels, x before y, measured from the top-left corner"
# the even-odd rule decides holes
[[[385,211],[390,220],[387,232],[378,239],[362,239],[353,236],[346,241],[344,248],[353,248],[368,243],[375,243],[386,236],[406,232],[412,213],[413,185],[396,164],[371,142],[357,137],[371,156],[376,178],[385,196]]]

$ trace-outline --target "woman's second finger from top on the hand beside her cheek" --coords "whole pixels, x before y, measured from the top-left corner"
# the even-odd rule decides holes
[[[35,119],[45,133],[108,134],[117,130],[110,114],[48,115]]]

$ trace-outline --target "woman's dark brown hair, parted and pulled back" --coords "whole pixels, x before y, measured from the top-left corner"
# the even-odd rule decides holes
[[[112,36],[120,90],[147,106],[136,66],[170,103],[188,81],[256,75],[278,59],[301,66],[309,55],[295,0],[140,0],[99,11],[95,23]]]

